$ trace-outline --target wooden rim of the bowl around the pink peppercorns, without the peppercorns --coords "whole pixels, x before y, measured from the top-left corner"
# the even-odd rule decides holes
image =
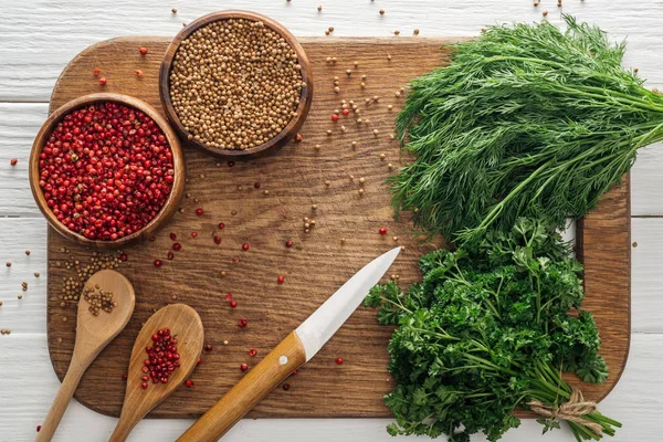
[[[168,140],[170,146],[170,150],[172,151],[172,165],[175,169],[175,180],[172,181],[172,188],[166,203],[159,211],[159,213],[143,229],[137,232],[131,233],[130,235],[120,238],[116,241],[96,241],[90,240],[76,232],[69,230],[66,225],[57,220],[57,218],[51,211],[51,208],[46,204],[46,199],[42,192],[41,187],[39,186],[40,172],[39,172],[39,156],[43,150],[44,144],[46,143],[51,131],[55,128],[57,123],[71,112],[90,106],[94,103],[102,102],[114,102],[120,103],[128,107],[134,107],[138,110],[141,110],[146,115],[148,115],[151,119],[155,120],[157,126],[164,133],[164,136]],[[96,249],[117,249],[120,246],[129,245],[131,243],[138,242],[139,240],[144,240],[146,238],[151,236],[160,227],[166,224],[170,218],[178,210],[179,203],[182,199],[185,192],[185,180],[186,180],[186,171],[185,171],[185,157],[182,154],[182,149],[180,146],[179,138],[177,134],[170,125],[168,120],[164,118],[157,109],[147,103],[130,97],[128,95],[122,94],[110,94],[110,93],[101,93],[101,94],[90,94],[84,95],[82,97],[72,99],[69,103],[65,103],[62,107],[57,108],[54,113],[52,113],[49,118],[44,122],[39,134],[36,134],[36,138],[32,143],[32,151],[30,154],[30,188],[32,190],[32,196],[34,197],[34,201],[36,206],[49,221],[49,224],[53,229],[55,229],[60,234],[72,239],[78,243],[93,246]]]

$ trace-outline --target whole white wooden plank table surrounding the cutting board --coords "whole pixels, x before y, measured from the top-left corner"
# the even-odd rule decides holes
[[[317,11],[317,6],[323,11]],[[250,9],[273,17],[295,35],[388,36],[393,30],[422,36],[476,35],[492,23],[536,21],[543,10],[560,22],[560,12],[599,24],[613,39],[628,36],[625,65],[638,66],[650,87],[663,88],[663,1],[657,0],[1,0],[0,1],[0,441],[33,440],[60,386],[45,338],[46,224],[28,187],[32,139],[46,117],[55,80],[87,45],[117,35],[175,35],[182,22],[220,9]],[[171,8],[178,13],[172,14]],[[380,15],[379,10],[386,14]],[[11,158],[19,164],[11,167]],[[663,411],[663,149],[641,151],[632,170],[632,338],[627,370],[601,411],[623,422],[613,441],[660,441]],[[25,255],[29,249],[31,254]],[[42,277],[34,278],[40,272]],[[21,302],[20,283],[29,292]],[[351,386],[339,386],[351,388]],[[72,403],[57,441],[105,441],[116,420]],[[244,420],[224,441],[391,441],[388,420]],[[131,441],[170,441],[191,421],[141,422]],[[540,427],[524,421],[504,441],[537,440]],[[483,438],[476,438],[477,441]],[[570,441],[567,431],[548,441]]]

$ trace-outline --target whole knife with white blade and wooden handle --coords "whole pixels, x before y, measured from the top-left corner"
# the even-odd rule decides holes
[[[293,371],[308,362],[387,273],[400,248],[376,257],[285,337],[177,442],[219,440]]]

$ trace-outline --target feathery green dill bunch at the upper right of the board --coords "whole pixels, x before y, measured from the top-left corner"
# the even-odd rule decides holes
[[[397,211],[459,244],[519,217],[587,213],[663,139],[663,96],[624,70],[624,43],[565,17],[490,28],[411,83],[396,131],[414,160],[389,179]]]

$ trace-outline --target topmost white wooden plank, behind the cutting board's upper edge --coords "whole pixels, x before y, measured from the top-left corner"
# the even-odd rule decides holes
[[[663,85],[657,65],[663,36],[663,8],[650,0],[566,0],[557,8],[552,0],[538,8],[528,0],[501,0],[491,8],[481,1],[381,0],[117,0],[108,2],[11,1],[2,2],[0,19],[0,101],[48,101],[64,65],[92,43],[117,35],[175,35],[188,22],[219,9],[249,9],[265,13],[288,27],[296,35],[323,35],[328,27],[335,35],[389,35],[396,29],[409,35],[475,35],[486,24],[535,21],[549,11],[551,22],[561,11],[592,21],[614,39],[629,36],[628,65],[638,65],[654,86]],[[317,12],[317,4],[323,4]],[[178,8],[172,14],[171,8]],[[385,9],[385,15],[378,11]]]

